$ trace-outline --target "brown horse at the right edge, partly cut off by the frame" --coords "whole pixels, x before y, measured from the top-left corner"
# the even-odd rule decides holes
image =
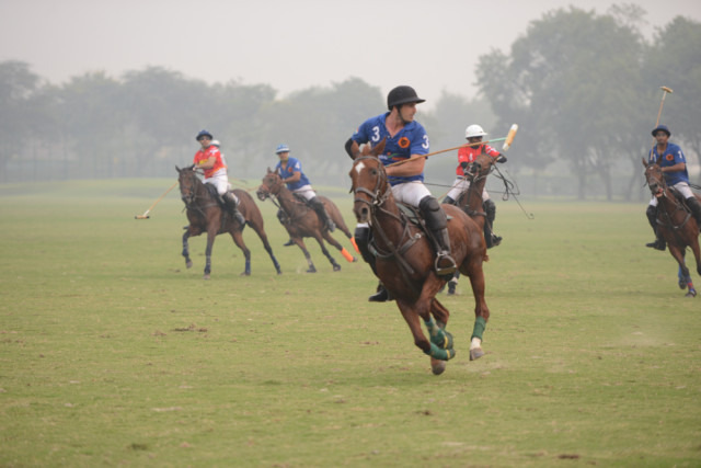
[[[697,260],[697,273],[701,275],[699,226],[686,205],[667,186],[662,168],[655,163],[648,163],[645,158],[643,158],[643,165],[650,192],[657,197],[657,229],[667,242],[669,253],[679,264],[679,287],[689,289],[687,297],[694,297],[697,290],[683,258],[687,247],[690,247]],[[701,199],[699,195],[694,195]]]

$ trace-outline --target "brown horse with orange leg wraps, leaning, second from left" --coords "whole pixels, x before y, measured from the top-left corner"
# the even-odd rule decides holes
[[[265,201],[271,195],[275,195],[275,197],[277,197],[279,207],[285,212],[288,218],[288,221],[284,222],[285,229],[287,229],[290,239],[302,250],[302,252],[304,253],[304,259],[307,259],[307,264],[309,265],[307,273],[315,273],[317,267],[312,263],[311,255],[309,254],[309,251],[304,246],[303,238],[306,237],[314,238],[317,242],[319,242],[321,251],[324,255],[326,255],[326,259],[329,259],[329,261],[333,265],[334,272],[341,270],[341,265],[336,263],[334,258],[331,256],[331,253],[329,253],[329,250],[326,250],[326,247],[324,246],[324,239],[326,240],[326,242],[341,251],[341,254],[348,262],[357,261],[357,259],[350,255],[350,253],[348,253],[348,251],[343,246],[341,246],[338,241],[331,237],[329,229],[319,219],[317,213],[311,209],[304,202],[295,196],[295,194],[292,194],[292,192],[285,186],[285,183],[283,182],[280,176],[274,171],[271,171],[269,168],[267,170],[267,173],[263,178],[263,183],[258,187],[256,194],[258,196],[258,199],[261,201]],[[334,221],[336,227],[344,235],[346,235],[348,239],[350,239],[350,242],[353,242],[353,235],[343,220],[343,216],[341,216],[338,207],[325,196],[319,196],[319,199],[324,204],[326,213],[329,213],[329,216]]]

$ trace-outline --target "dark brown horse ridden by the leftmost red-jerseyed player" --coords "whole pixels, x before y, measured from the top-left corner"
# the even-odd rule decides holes
[[[205,264],[204,278],[209,279],[209,274],[211,273],[211,247],[215,243],[215,238],[217,235],[229,232],[233,242],[241,249],[245,256],[245,270],[241,274],[249,276],[251,274],[251,251],[243,242],[243,228],[245,225],[241,226],[241,224],[233,219],[231,214],[221,206],[221,203],[218,201],[218,195],[214,195],[206,186],[209,184],[204,184],[199,180],[197,172],[194,170],[194,165],[184,169],[175,167],[175,169],[177,169],[179,173],[181,198],[185,203],[187,219],[189,220],[189,226],[185,228],[185,233],[183,235],[183,256],[185,258],[187,267],[189,269],[193,265],[192,260],[189,260],[187,239],[192,236],[199,236],[203,232],[207,232],[207,249],[205,251],[207,261]],[[280,265],[277,263],[277,259],[273,254],[271,243],[267,241],[261,210],[248,192],[237,189],[233,193],[239,198],[239,210],[245,218],[245,224],[251,226],[261,238],[263,247],[265,247],[265,251],[271,255],[271,260],[279,275],[283,272],[280,271]]]

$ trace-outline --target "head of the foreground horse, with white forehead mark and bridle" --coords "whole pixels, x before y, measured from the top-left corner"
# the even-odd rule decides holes
[[[378,159],[383,149],[384,139],[372,149],[366,145],[363,152],[354,158],[349,173],[350,192],[355,195],[353,213],[358,222],[368,222],[371,210],[392,194],[384,165]]]

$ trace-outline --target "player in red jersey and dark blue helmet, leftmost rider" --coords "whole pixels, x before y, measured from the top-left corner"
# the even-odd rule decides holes
[[[239,212],[239,198],[229,191],[229,176],[227,175],[227,162],[223,155],[219,151],[218,145],[212,145],[212,136],[207,130],[197,134],[197,141],[202,145],[202,149],[195,153],[195,167],[205,171],[206,184],[211,184],[217,189],[217,193],[223,199],[223,203],[233,218],[241,226],[245,224],[245,218]]]

